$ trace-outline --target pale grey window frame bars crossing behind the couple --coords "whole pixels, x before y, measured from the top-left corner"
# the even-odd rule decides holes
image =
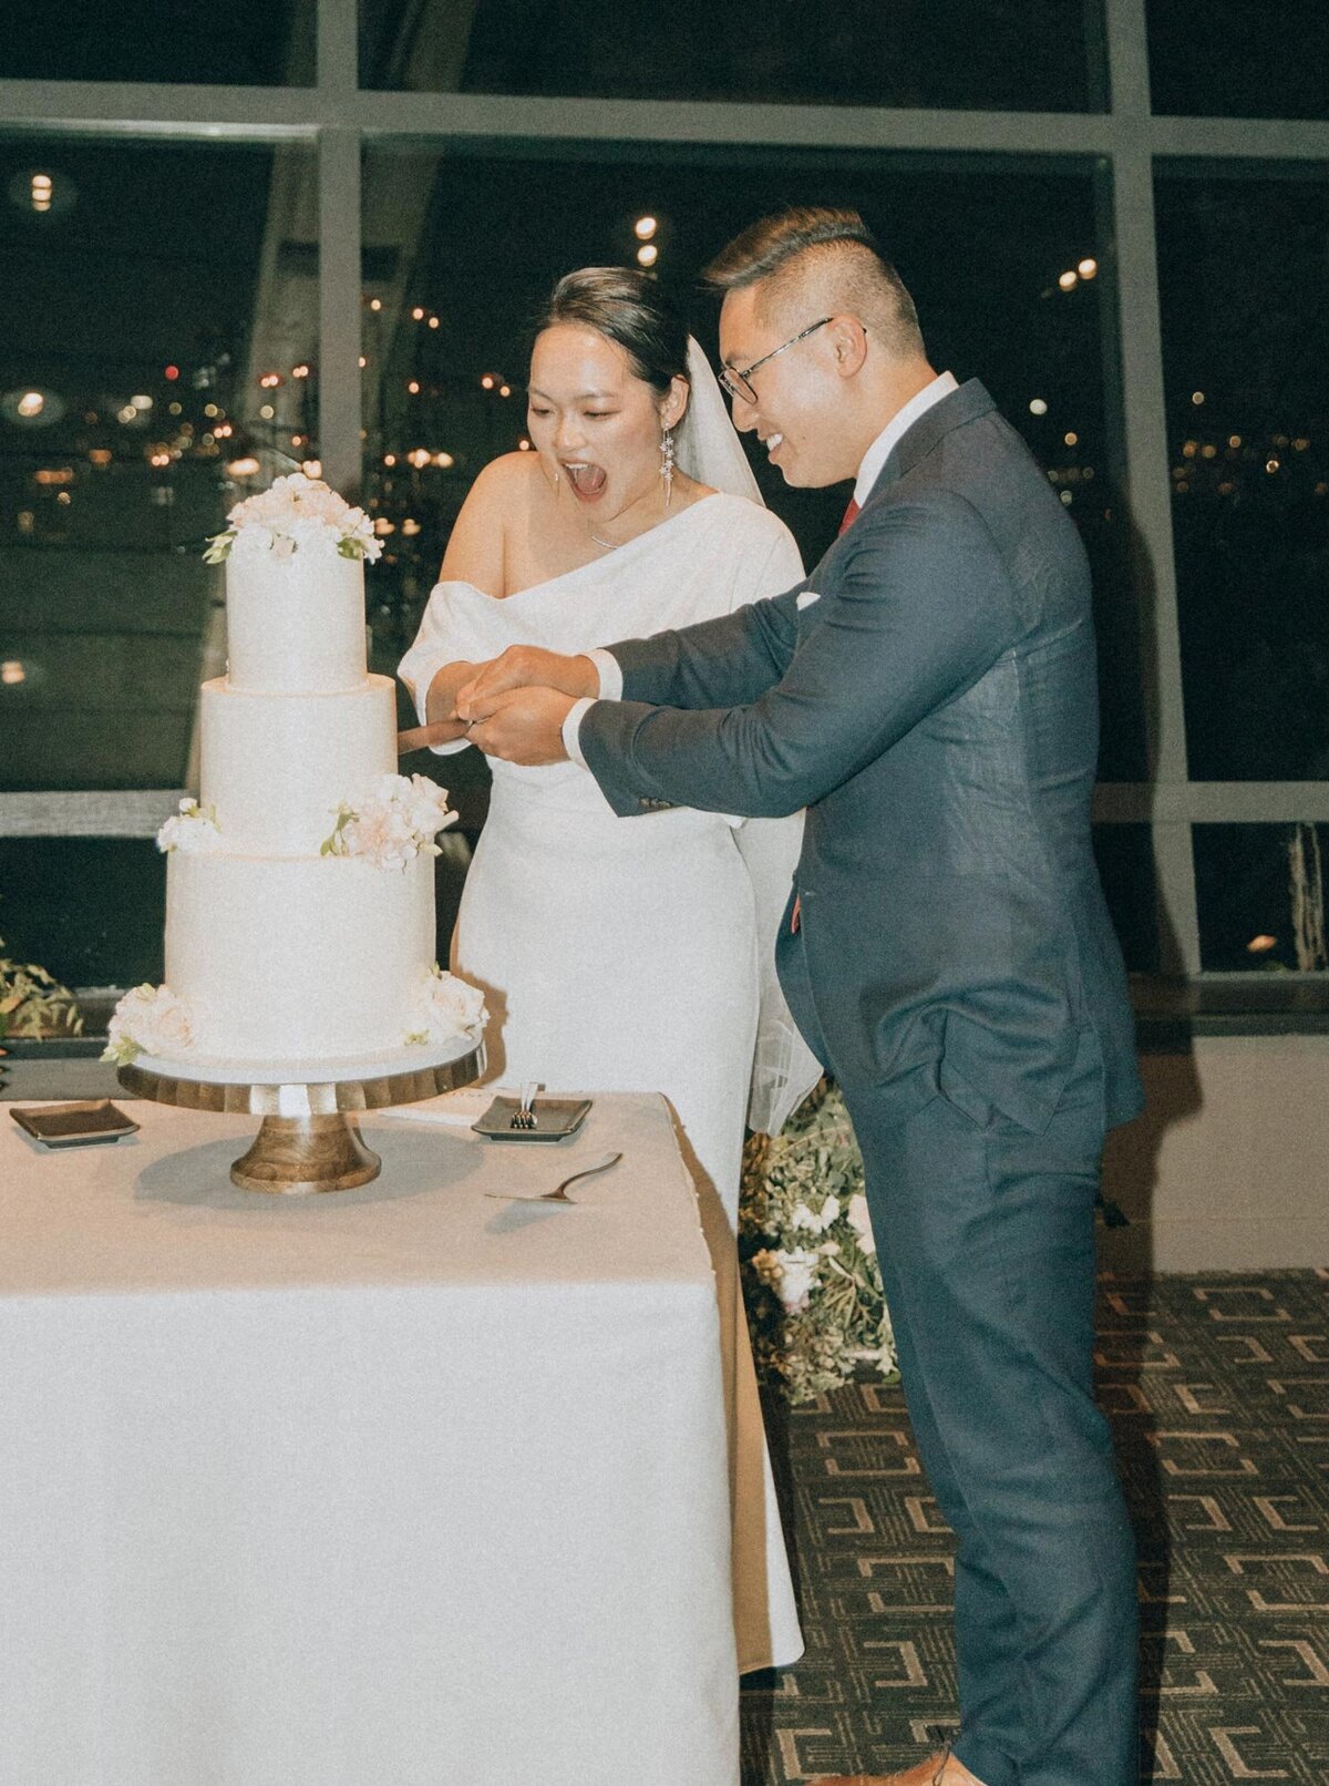
[[[1329,123],[1166,118],[1150,113],[1145,0],[1100,0],[1100,113],[913,111],[847,105],[693,104],[386,93],[359,88],[357,0],[316,5],[316,80],[307,88],[207,88],[0,80],[5,134],[38,139],[302,143],[318,157],[320,455],[329,480],[361,486],[361,152],[370,143],[538,139],[634,145],[859,148],[988,157],[1088,157],[1111,195],[1115,255],[1102,275],[1118,314],[1109,400],[1120,402],[1116,468],[1131,505],[1133,579],[1149,779],[1102,782],[1097,823],[1145,823],[1156,864],[1154,931],[1165,975],[1200,968],[1191,855],[1197,823],[1329,823],[1329,782],[1197,782],[1186,763],[1172,491],[1163,400],[1154,171],[1161,161],[1324,163]],[[1093,5],[1093,0],[1088,0]],[[1093,36],[1093,34],[1091,34]],[[1116,389],[1113,389],[1116,384]],[[0,793],[0,836],[150,838],[180,789]],[[1233,975],[1227,975],[1233,979]],[[1247,975],[1234,975],[1245,979]],[[1322,981],[1324,975],[1304,975]]]

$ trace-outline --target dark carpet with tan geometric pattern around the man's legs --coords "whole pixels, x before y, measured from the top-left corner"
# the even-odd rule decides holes
[[[1329,1782],[1329,1270],[1106,1279],[1100,1400],[1140,1543],[1141,1781]],[[954,1727],[950,1534],[899,1388],[770,1411],[807,1654],[743,1695],[743,1786]]]

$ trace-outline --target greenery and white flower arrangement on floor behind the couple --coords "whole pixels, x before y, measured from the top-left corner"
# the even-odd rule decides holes
[[[738,1250],[757,1372],[807,1402],[859,1370],[895,1375],[895,1341],[838,1088],[822,1081],[743,1154]]]

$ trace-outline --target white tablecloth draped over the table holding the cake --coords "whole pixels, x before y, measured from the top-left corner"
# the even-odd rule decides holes
[[[366,1116],[0,1125],[0,1754],[23,1786],[732,1786],[716,1286],[659,1098],[559,1147]],[[614,1147],[584,1206],[497,1204]],[[723,1300],[723,1297],[722,1297]]]

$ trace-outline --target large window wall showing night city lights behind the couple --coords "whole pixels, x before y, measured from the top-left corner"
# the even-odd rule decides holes
[[[138,936],[123,911],[155,909],[152,834],[195,777],[196,689],[223,654],[200,547],[238,497],[300,464],[352,493],[363,463],[386,547],[372,661],[391,672],[472,479],[520,450],[527,323],[554,279],[654,264],[713,350],[706,261],[766,211],[840,202],[877,227],[934,363],[988,384],[1088,548],[1099,768],[1127,784],[1100,798],[1095,848],[1127,961],[1325,968],[1322,0],[205,11],[7,14],[0,82],[43,86],[5,89],[25,136],[0,121],[0,934],[41,954],[50,932],[59,956],[61,925],[93,938],[105,968],[61,963],[84,984],[148,973],[116,938]],[[355,32],[364,114],[345,91]],[[598,100],[704,104],[618,104],[606,123]],[[600,129],[623,141],[577,141]],[[1161,148],[1150,239],[1133,182]],[[341,252],[357,213],[359,266]],[[320,218],[347,229],[325,255]],[[847,491],[757,475],[815,561]],[[447,779],[473,834],[482,761]],[[1213,786],[1252,780],[1268,798]],[[105,839],[59,836],[100,823]],[[79,904],[93,884],[105,923]],[[27,943],[20,906],[41,925]]]

